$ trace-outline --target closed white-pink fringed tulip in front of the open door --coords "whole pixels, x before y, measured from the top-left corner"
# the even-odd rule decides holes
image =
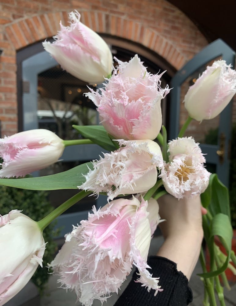
[[[185,95],[185,108],[197,121],[212,119],[228,105],[236,92],[236,71],[225,61],[208,66]]]

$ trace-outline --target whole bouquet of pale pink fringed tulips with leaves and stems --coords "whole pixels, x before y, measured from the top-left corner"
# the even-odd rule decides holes
[[[1,185],[82,190],[39,222],[20,210],[1,216],[0,305],[18,293],[42,265],[45,227],[89,194],[106,194],[107,204],[98,210],[94,207],[87,220],[73,226],[49,264],[59,275],[61,286],[75,290],[83,305],[92,305],[94,299],[103,302],[118,291],[135,265],[138,282],[157,294],[162,288],[147,270],[146,260],[151,237],[161,221],[157,200],[165,193],[178,199],[201,194],[202,205],[208,209],[203,228],[211,258],[211,270],[207,271],[201,252],[204,304],[216,305],[215,288],[224,305],[219,275],[228,286],[224,271],[230,267],[235,273],[231,261],[236,263],[231,251],[228,191],[216,174],[205,169],[199,145],[192,137],[184,137],[184,132],[192,119],[214,118],[227,106],[236,92],[236,72],[221,60],[207,67],[185,96],[186,124],[178,138],[167,142],[160,103],[170,89],[161,88],[162,74],[148,73],[137,55],[129,62],[115,58],[118,65],[112,68],[112,54],[105,41],[80,23],[78,12],[70,13],[70,19],[70,26],[61,25],[55,41],[43,46],[72,75],[89,84],[103,82],[100,89],[89,88],[86,93],[97,106],[101,125],[73,126],[84,137],[78,140],[62,140],[44,129],[0,139]],[[109,153],[58,174],[11,178],[57,162],[66,146],[78,144],[98,144]],[[126,199],[123,195],[131,196]],[[217,248],[215,235],[227,255]]]

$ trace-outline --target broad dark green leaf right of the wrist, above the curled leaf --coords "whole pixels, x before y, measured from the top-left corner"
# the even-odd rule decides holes
[[[201,203],[213,216],[222,213],[230,219],[229,192],[227,187],[219,180],[217,174],[211,174],[208,187],[201,194]]]

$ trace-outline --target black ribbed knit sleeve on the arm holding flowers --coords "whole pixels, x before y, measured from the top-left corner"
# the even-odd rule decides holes
[[[176,263],[160,256],[149,257],[147,263],[152,268],[150,273],[153,277],[160,277],[159,285],[163,291],[154,297],[153,289],[148,292],[141,283],[134,282],[138,277],[135,272],[114,306],[185,306],[192,302],[193,294],[188,279],[177,271]]]

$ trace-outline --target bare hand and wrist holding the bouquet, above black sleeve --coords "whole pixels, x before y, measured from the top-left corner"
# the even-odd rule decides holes
[[[200,196],[176,199],[164,195],[159,200],[159,214],[166,221],[160,223],[165,241],[158,256],[166,257],[177,264],[177,269],[189,279],[199,257],[203,239]]]

